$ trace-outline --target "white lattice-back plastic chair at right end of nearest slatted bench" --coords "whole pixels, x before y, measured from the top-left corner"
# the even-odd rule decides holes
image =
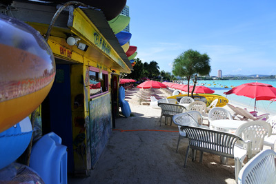
[[[252,156],[254,156],[263,150],[264,137],[269,137],[271,132],[271,125],[266,121],[248,121],[240,125],[235,134],[244,141],[252,141]],[[251,159],[251,156],[248,156],[248,159]]]

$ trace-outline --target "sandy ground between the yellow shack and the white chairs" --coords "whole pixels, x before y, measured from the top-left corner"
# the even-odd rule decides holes
[[[155,92],[171,96],[169,91]],[[202,163],[198,157],[188,158],[184,167],[188,140],[181,139],[177,153],[177,126],[164,125],[163,119],[160,127],[161,110],[140,105],[138,94],[138,88],[126,91],[132,115],[116,119],[116,129],[90,176],[70,177],[68,183],[235,183],[233,159],[223,165],[219,156],[204,153]]]

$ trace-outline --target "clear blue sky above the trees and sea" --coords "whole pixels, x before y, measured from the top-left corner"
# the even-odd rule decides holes
[[[276,74],[275,0],[127,0],[137,58],[172,62],[193,49],[210,57],[210,75]]]

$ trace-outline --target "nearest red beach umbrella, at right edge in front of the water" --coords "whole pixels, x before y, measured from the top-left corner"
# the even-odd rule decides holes
[[[244,83],[228,92],[224,92],[224,94],[236,94],[238,96],[246,96],[250,99],[255,99],[255,111],[256,101],[269,101],[270,99],[276,98],[276,88],[266,83]]]

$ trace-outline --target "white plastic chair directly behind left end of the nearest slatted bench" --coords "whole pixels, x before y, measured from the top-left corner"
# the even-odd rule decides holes
[[[189,112],[184,112],[184,113],[172,116],[172,122],[178,126],[178,130],[179,130],[179,137],[177,141],[177,152],[179,147],[179,141],[181,139],[187,138],[187,134],[186,132],[181,130],[181,126],[186,125],[186,126],[209,128],[208,126],[202,125],[202,116],[198,111],[189,111]]]

